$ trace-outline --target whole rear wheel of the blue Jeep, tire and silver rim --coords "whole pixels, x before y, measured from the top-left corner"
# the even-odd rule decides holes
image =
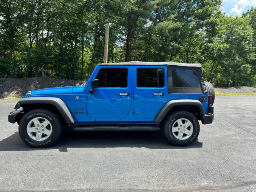
[[[170,114],[162,125],[167,140],[176,146],[188,146],[200,132],[199,122],[192,113],[178,111]]]

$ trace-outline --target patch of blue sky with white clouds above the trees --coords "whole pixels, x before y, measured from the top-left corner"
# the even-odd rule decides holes
[[[222,10],[228,15],[241,15],[251,7],[256,7],[256,0],[223,0]]]

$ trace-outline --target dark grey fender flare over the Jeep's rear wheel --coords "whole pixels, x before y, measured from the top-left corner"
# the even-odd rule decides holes
[[[154,118],[154,122],[161,122],[164,117],[166,116],[166,114],[171,110],[171,108],[173,108],[174,106],[186,106],[186,105],[194,105],[194,106],[198,106],[200,113],[202,115],[205,114],[204,112],[204,107],[202,105],[202,103],[198,100],[194,100],[194,99],[177,99],[177,100],[171,100],[168,101],[160,110],[160,112],[158,112],[158,114],[156,115],[156,117]]]

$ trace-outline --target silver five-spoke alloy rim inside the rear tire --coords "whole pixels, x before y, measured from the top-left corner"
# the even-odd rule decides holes
[[[188,119],[178,119],[172,125],[172,133],[178,140],[188,139],[193,133],[193,124]]]

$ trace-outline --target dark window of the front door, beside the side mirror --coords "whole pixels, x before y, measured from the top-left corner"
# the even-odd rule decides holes
[[[96,79],[99,87],[127,87],[127,68],[102,68]]]

